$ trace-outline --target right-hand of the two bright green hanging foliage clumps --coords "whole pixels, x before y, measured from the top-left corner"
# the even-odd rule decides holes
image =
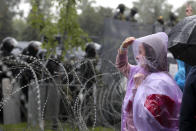
[[[63,34],[64,53],[73,47],[84,47],[88,38],[78,24],[76,0],[58,0],[60,19],[58,21],[59,33]]]

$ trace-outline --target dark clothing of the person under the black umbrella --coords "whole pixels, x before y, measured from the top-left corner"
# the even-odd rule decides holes
[[[196,131],[196,66],[190,70],[183,92],[180,131]]]

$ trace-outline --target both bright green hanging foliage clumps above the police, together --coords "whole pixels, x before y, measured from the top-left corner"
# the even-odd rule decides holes
[[[52,0],[49,2],[43,2],[45,0],[31,0],[32,9],[28,17],[28,24],[30,30],[36,34],[37,38],[45,37],[47,41],[44,42],[44,48],[50,50],[55,49],[57,42],[55,41],[55,35],[60,34],[63,42],[63,54],[66,50],[73,47],[84,47],[88,36],[82,31],[78,24],[78,15],[76,12],[75,0]],[[53,16],[50,10],[45,6],[51,7],[54,2],[58,3],[60,10],[59,18]],[[55,50],[53,50],[55,52]],[[54,53],[53,52],[53,53]]]

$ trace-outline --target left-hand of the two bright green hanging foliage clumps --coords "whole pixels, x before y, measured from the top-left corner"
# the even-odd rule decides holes
[[[52,23],[53,16],[50,14],[50,8],[53,1],[45,0],[31,0],[32,9],[28,16],[28,36],[31,40],[40,40],[46,38],[47,41],[43,41],[43,47],[47,50],[54,49],[57,46],[54,35],[58,33],[57,24]],[[47,7],[47,8],[46,8]],[[34,35],[31,35],[34,33]],[[54,52],[55,53],[55,50]]]

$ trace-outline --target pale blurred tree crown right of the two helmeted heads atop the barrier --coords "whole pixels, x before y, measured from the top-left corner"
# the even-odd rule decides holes
[[[154,23],[158,16],[168,18],[172,6],[166,0],[139,0],[133,2],[134,7],[139,10],[139,19],[144,23]]]

